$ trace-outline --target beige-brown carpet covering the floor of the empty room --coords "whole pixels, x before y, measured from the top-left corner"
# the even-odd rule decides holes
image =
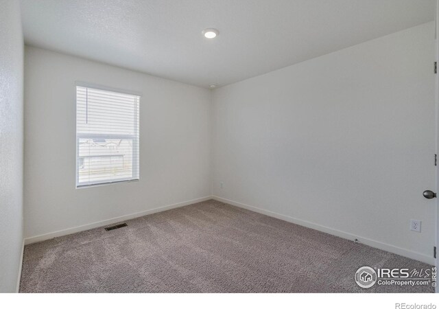
[[[25,246],[21,293],[423,292],[354,281],[360,266],[431,268],[217,201]]]

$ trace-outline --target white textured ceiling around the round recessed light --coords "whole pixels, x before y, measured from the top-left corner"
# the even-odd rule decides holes
[[[22,0],[25,43],[208,87],[434,20],[435,0]],[[206,39],[202,30],[219,36]]]

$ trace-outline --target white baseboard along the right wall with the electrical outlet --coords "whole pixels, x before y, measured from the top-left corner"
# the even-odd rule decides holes
[[[278,218],[278,219],[281,219],[281,220],[284,220],[284,221],[287,221],[287,222],[292,222],[292,223],[294,223],[296,225],[302,225],[303,227],[309,227],[310,229],[316,229],[317,231],[322,231],[324,233],[328,233],[328,234],[331,234],[331,235],[334,235],[334,236],[338,236],[338,237],[341,237],[341,238],[345,238],[345,239],[348,239],[348,240],[355,240],[355,239],[357,239],[357,240],[359,240],[359,242],[361,242],[361,244],[366,244],[366,245],[368,245],[370,247],[374,247],[374,248],[381,249],[381,250],[384,250],[384,251],[388,251],[388,252],[391,252],[391,253],[395,253],[395,254],[398,254],[398,255],[403,255],[406,258],[411,258],[413,260],[418,260],[420,262],[424,262],[424,263],[431,264],[431,265],[435,264],[435,259],[432,256],[429,257],[428,255],[425,255],[423,253],[418,253],[418,252],[415,252],[415,251],[410,251],[410,250],[407,250],[407,249],[403,249],[401,247],[396,247],[396,246],[394,246],[392,244],[385,244],[385,243],[379,242],[377,240],[372,240],[372,239],[369,239],[369,238],[364,238],[364,237],[357,236],[357,235],[354,235],[354,234],[351,234],[351,233],[346,233],[344,231],[339,231],[337,229],[332,229],[330,227],[324,227],[323,225],[318,225],[318,224],[313,223],[313,222],[309,222],[309,221],[305,221],[305,220],[300,220],[298,218],[293,218],[293,217],[290,217],[290,216],[285,216],[283,214],[278,214],[278,213],[276,213],[274,211],[261,209],[261,208],[258,208],[258,207],[246,205],[246,204],[235,202],[235,201],[230,201],[230,200],[228,200],[226,198],[220,198],[219,196],[212,196],[212,198],[215,201],[219,201],[219,202],[230,204],[230,205],[233,205],[233,206],[236,206],[236,207],[241,207],[241,208],[244,208],[244,209],[255,211],[255,212],[258,212],[259,214],[265,214],[265,215],[270,216],[270,217]]]

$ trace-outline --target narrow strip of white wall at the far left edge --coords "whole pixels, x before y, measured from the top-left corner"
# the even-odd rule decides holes
[[[0,293],[15,292],[23,248],[23,33],[19,1],[0,0]]]

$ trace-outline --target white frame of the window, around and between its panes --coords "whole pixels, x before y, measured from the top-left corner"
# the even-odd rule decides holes
[[[115,134],[93,134],[93,133],[78,133],[78,87],[86,87],[86,88],[92,88],[102,91],[111,91],[115,93],[123,93],[128,95],[136,95],[139,97],[139,106],[137,109],[135,109],[134,114],[134,127],[138,128],[137,135],[139,136],[139,141],[137,141],[136,135],[115,135]],[[138,91],[129,91],[129,90],[123,90],[123,89],[117,89],[112,87],[106,87],[102,85],[97,84],[91,84],[88,82],[75,82],[75,142],[76,142],[76,155],[75,155],[75,188],[76,189],[82,189],[86,187],[96,187],[101,185],[112,185],[115,183],[130,183],[140,180],[140,102],[142,98],[142,93],[139,93]],[[139,113],[139,115],[137,115]],[[139,117],[139,121],[137,122],[137,118]],[[94,181],[88,181],[79,183],[79,155],[80,155],[80,148],[79,148],[79,141],[80,139],[131,139],[132,140],[132,174],[137,175],[136,177],[128,177],[128,178],[120,178],[120,179],[114,179],[110,181],[104,181],[96,183]],[[134,162],[137,162],[137,164],[134,164]]]

